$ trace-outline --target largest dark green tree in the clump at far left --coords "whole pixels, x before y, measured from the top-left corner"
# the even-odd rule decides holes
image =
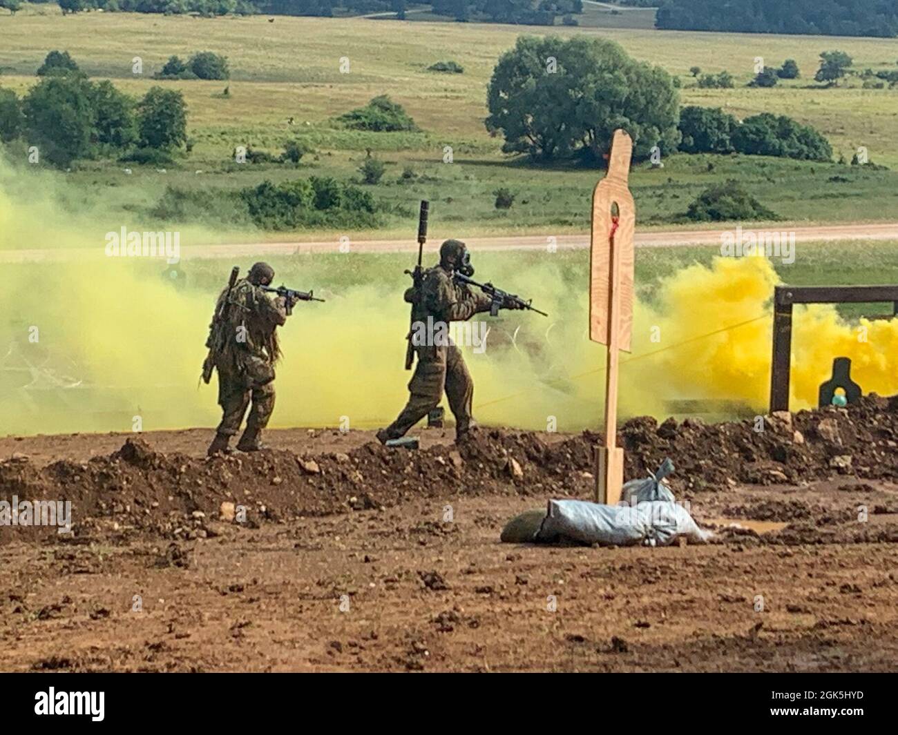
[[[45,161],[67,166],[92,153],[92,84],[75,76],[46,76],[22,102],[29,144]]]

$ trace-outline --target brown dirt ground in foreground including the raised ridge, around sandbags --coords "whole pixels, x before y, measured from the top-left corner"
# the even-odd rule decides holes
[[[744,526],[666,548],[498,542],[588,497],[596,434],[293,429],[215,459],[205,430],[7,437],[0,498],[70,498],[76,525],[0,527],[0,669],[896,670],[896,429],[894,398],[624,424],[627,477],[669,455],[697,520]]]

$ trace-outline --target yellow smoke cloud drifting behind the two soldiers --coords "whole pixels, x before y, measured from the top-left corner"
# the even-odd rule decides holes
[[[53,205],[49,177],[35,180],[48,192],[36,199],[11,194],[10,176],[0,168],[0,254],[49,243],[78,254],[4,266],[0,433],[214,426],[216,384],[198,387],[198,373],[220,285],[176,289],[163,279],[161,259],[106,258],[103,233],[119,229],[121,214],[63,213]],[[582,257],[573,275],[549,256],[531,257],[527,268],[519,265],[521,253],[477,257],[478,276],[488,273],[534,296],[551,315],[484,315],[490,326],[485,352],[464,348],[481,423],[545,429],[554,422],[560,430],[601,424],[605,353],[587,337],[585,252]],[[375,257],[328,261],[334,283],[364,267],[353,258]],[[231,265],[217,262],[221,284]],[[653,306],[635,309],[633,352],[622,355],[621,415],[664,417],[669,401],[684,398],[734,399],[763,412],[770,386],[769,302],[777,282],[764,258],[717,258],[710,267],[686,267],[666,279]],[[348,422],[370,428],[392,421],[410,377],[402,370],[405,285],[375,280],[335,287],[325,294],[327,303],[296,306],[281,329],[285,359],[278,366],[272,426]],[[858,339],[858,326],[866,328],[866,341]],[[865,391],[898,392],[896,320],[850,325],[830,306],[797,308],[793,352],[794,409],[814,404],[832,358],[840,355],[852,359],[853,377]]]

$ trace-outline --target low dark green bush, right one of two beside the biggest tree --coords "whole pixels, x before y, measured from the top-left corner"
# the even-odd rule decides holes
[[[745,118],[736,127],[733,147],[738,153],[775,155],[807,161],[829,161],[832,147],[813,127],[801,125],[785,115],[762,112]]]

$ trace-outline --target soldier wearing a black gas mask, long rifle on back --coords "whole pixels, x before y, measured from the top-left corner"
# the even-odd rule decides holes
[[[424,416],[439,405],[445,390],[449,407],[455,416],[455,441],[462,440],[475,426],[471,416],[471,399],[474,383],[471,373],[464,363],[462,352],[448,337],[448,325],[453,321],[466,321],[475,314],[489,311],[492,299],[486,293],[472,293],[465,284],[456,283],[454,273],[473,276],[471,254],[464,243],[447,240],[440,246],[440,262],[427,268],[419,290],[409,288],[405,300],[412,304],[412,339],[418,364],[409,381],[409,402],[396,420],[377,432],[377,439],[388,442],[399,439]],[[505,309],[517,309],[516,302],[503,303]],[[429,318],[429,319],[428,319]],[[415,337],[425,330],[433,337],[436,325],[436,339],[420,340]],[[441,334],[446,336],[439,338]],[[426,344],[420,344],[420,343]]]

